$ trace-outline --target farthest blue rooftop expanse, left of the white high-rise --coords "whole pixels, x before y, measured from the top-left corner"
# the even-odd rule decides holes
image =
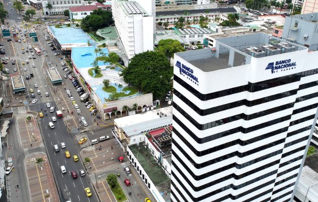
[[[49,29],[61,44],[87,43],[89,40],[92,45],[96,45],[95,41],[80,28],[66,26],[56,28],[55,26],[49,26]]]

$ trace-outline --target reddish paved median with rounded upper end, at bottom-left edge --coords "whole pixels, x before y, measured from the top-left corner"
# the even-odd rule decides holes
[[[44,161],[36,163],[37,158]],[[55,185],[52,170],[43,153],[32,153],[25,158],[24,166],[32,202],[59,202],[59,194]],[[21,200],[22,201],[22,200]]]

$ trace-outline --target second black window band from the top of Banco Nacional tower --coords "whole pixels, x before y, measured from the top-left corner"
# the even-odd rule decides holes
[[[179,97],[187,106],[192,108],[198,115],[206,116],[209,114],[222,112],[222,111],[233,109],[233,108],[240,107],[240,106],[253,107],[256,105],[263,104],[263,103],[268,103],[268,102],[271,102],[271,101],[276,100],[276,99],[281,99],[284,97],[295,95],[295,94],[297,94],[297,90],[298,89],[288,90],[285,92],[277,93],[277,94],[270,95],[267,97],[261,97],[261,98],[254,99],[254,100],[241,99],[241,100],[237,100],[237,101],[232,102],[232,103],[227,103],[224,105],[220,105],[220,106],[216,106],[216,107],[208,108],[208,109],[204,109],[204,110],[200,109],[198,106],[196,106],[194,103],[192,103],[185,95],[181,94],[178,90],[174,89],[173,93],[175,96]]]

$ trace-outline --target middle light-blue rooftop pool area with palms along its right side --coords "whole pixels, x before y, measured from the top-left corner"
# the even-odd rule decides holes
[[[92,63],[96,58],[94,53],[95,46],[89,47],[73,47],[72,48],[72,60],[78,68],[92,67]],[[108,56],[108,49],[101,48],[103,53]],[[99,54],[97,54],[99,56]],[[99,66],[104,66],[105,64],[101,61],[98,61]]]

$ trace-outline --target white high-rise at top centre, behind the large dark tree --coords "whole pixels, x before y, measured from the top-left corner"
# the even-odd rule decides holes
[[[153,50],[154,1],[113,0],[112,12],[117,32],[130,60],[135,54]],[[151,13],[150,13],[151,12]]]

